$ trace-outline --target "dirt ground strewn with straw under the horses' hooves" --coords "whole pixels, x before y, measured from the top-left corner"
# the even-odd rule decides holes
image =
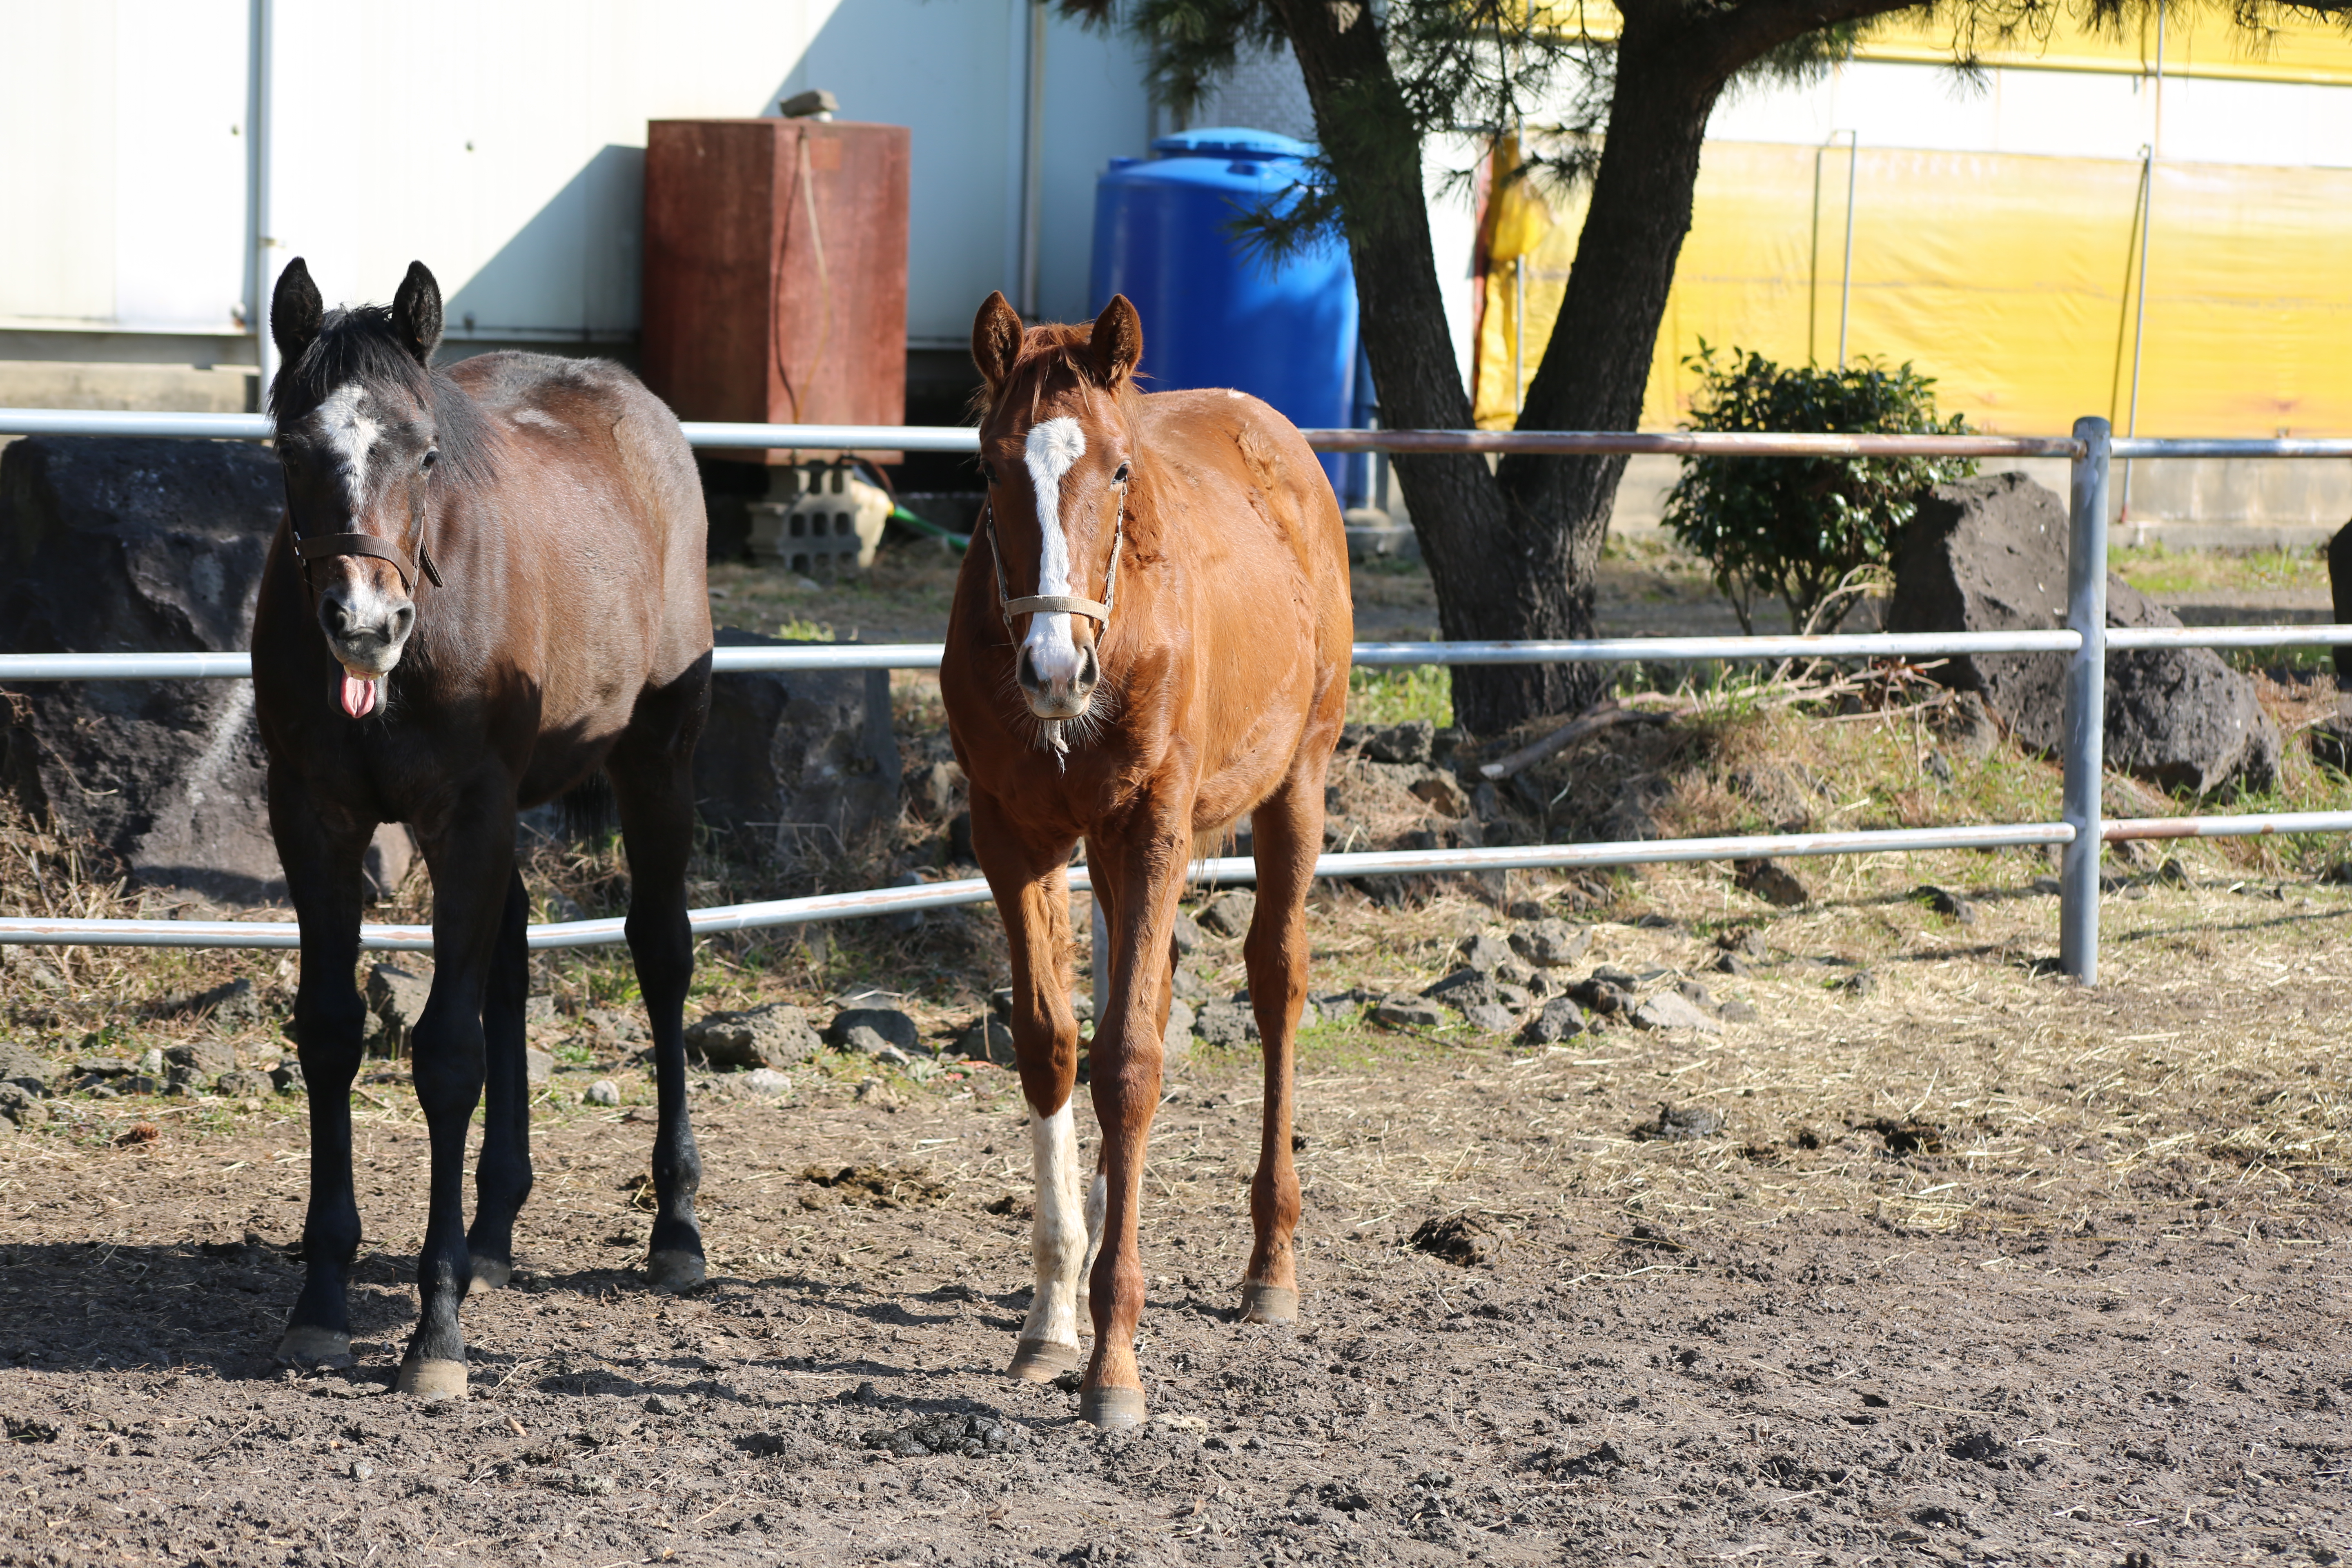
[[[468,1305],[475,1396],[445,1406],[383,1392],[423,1218],[405,1086],[360,1100],[362,1354],[320,1375],[268,1359],[299,1103],[56,1100],[0,1143],[0,1561],[2352,1554],[2352,891],[2152,884],[2082,992],[2037,973],[2032,860],[1955,865],[1966,929],[1875,891],[1919,867],[1839,867],[1797,912],[1677,870],[1583,922],[1592,961],[1757,1009],[1719,1034],[1317,1025],[1296,1328],[1232,1321],[1256,1058],[1195,1048],[1155,1131],[1134,1436],[1000,1375],[1028,1284],[1002,1070],[715,1079],[713,1284],[666,1300],[630,1272],[649,1088],[567,1063],[524,1269]],[[1748,976],[1705,971],[1724,907]],[[1334,896],[1317,957],[1425,983],[1494,919],[1446,896],[1376,933]],[[586,1074],[623,1105],[583,1107]],[[1661,1103],[1686,1135],[1637,1135]],[[1454,1218],[1458,1258],[1414,1246]],[[922,1422],[974,1453],[891,1453]]]

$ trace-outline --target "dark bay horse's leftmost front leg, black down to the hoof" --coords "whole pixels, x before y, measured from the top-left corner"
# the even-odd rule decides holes
[[[303,1286],[278,1356],[350,1363],[343,1286],[360,1253],[350,1190],[350,1081],[360,1072],[367,1009],[353,985],[360,959],[360,863],[374,823],[320,802],[294,769],[270,764],[270,835],[301,922],[294,1056],[310,1095],[310,1208],[301,1227]]]

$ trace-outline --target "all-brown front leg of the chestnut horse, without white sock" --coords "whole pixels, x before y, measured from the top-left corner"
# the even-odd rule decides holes
[[[1174,795],[1174,792],[1171,792]],[[1108,889],[1110,994],[1096,1001],[1094,1117],[1103,1124],[1089,1279],[1094,1363],[1077,1413],[1096,1427],[1143,1420],[1136,1324],[1143,1321],[1143,1159],[1160,1110],[1162,1032],[1169,1018],[1169,933],[1183,896],[1190,799],[1145,799],[1124,823],[1087,837],[1096,896]]]

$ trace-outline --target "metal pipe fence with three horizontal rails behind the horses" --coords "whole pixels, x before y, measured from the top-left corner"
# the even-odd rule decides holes
[[[898,425],[717,425],[687,423],[696,447],[767,447],[786,451],[976,451],[964,428]],[[0,409],[0,435],[160,435],[198,440],[266,440],[270,421],[252,414],[89,414],[68,409]],[[1319,877],[1383,877],[1416,872],[1496,872],[1613,867],[1766,856],[1907,853],[1931,849],[2060,846],[2060,966],[2091,985],[2098,980],[2098,865],[2112,839],[2246,837],[2288,832],[2352,832],[2352,811],[2216,813],[2183,818],[2103,820],[2100,729],[2105,717],[2105,658],[2129,649],[2192,646],[2343,646],[2352,625],[2197,625],[2107,628],[2107,473],[2129,458],[2347,458],[2352,440],[2152,440],[2112,437],[2105,418],[2082,418],[2070,437],[1987,435],[1726,435],[1623,430],[1308,430],[1319,451],[1402,454],[1672,454],[1672,456],[2065,456],[2070,458],[2067,623],[2016,632],[1865,632],[1835,637],[1595,637],[1578,642],[1359,642],[1355,663],[1491,665],[1491,663],[1693,663],[1783,658],[1940,658],[1955,654],[2065,654],[2065,731],[2060,745],[2063,813],[2056,823],[1994,823],[1964,827],[1903,827],[1811,835],[1738,835],[1715,839],[1651,839],[1637,844],[1526,844],[1496,849],[1430,849],[1329,853]],[[715,649],[717,672],[753,670],[936,670],[938,644],[797,644]],[[14,654],[0,656],[0,679],[245,679],[245,654]],[[1200,882],[1249,882],[1247,858],[1192,865]],[[1087,886],[1084,865],[1073,867]],[[821,919],[903,914],[988,903],[983,879],[934,882],[908,889],[866,889],[694,910],[696,933],[750,931]],[[619,919],[532,926],[532,947],[588,947],[623,940]],[[181,919],[0,919],[0,945],[127,945],[127,947],[299,947],[289,922]],[[430,950],[426,926],[365,926],[367,950]]]

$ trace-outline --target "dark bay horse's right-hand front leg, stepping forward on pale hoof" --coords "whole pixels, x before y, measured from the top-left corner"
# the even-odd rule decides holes
[[[466,1394],[456,1312],[473,1284],[466,1248],[466,1131],[482,1098],[482,1001],[515,872],[515,792],[503,776],[468,780],[423,835],[433,867],[433,994],[409,1044],[416,1103],[430,1133],[433,1185],[416,1255],[419,1321],[393,1385],[426,1399]],[[501,1037],[501,1048],[520,1048]]]

